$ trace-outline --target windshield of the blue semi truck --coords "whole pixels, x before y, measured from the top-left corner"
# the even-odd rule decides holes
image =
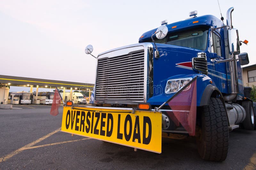
[[[184,32],[169,33],[164,39],[155,39],[156,43],[183,46],[205,51],[207,47],[208,28]],[[147,42],[152,42],[148,40]]]

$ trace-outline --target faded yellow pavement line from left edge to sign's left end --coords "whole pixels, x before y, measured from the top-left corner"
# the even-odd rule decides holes
[[[25,145],[25,146],[21,147],[20,149],[17,149],[16,151],[13,151],[13,152],[11,152],[11,153],[9,153],[9,154],[7,154],[7,155],[1,157],[1,158],[0,158],[0,163],[3,162],[3,161],[6,161],[7,159],[12,158],[14,155],[17,155],[18,153],[20,153],[21,151],[23,151],[24,148],[28,148],[28,147],[31,147],[31,146],[33,146],[33,145],[36,145],[37,143],[41,142],[42,140],[48,138],[49,136],[52,136],[54,133],[57,133],[58,131],[60,131],[60,129],[61,129],[61,128],[59,128],[59,129],[57,129],[57,130],[55,130],[55,131],[53,131],[53,132],[51,132],[51,133],[49,133],[49,134],[43,136],[42,138],[39,138],[39,139],[37,139],[37,140],[31,142],[31,143],[28,144],[28,145]]]

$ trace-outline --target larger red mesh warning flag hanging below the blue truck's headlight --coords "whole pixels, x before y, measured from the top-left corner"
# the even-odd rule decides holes
[[[171,101],[168,105],[172,109],[168,113],[169,117],[176,126],[179,123],[188,131],[190,136],[195,136],[196,130],[196,80],[193,81],[185,89]]]

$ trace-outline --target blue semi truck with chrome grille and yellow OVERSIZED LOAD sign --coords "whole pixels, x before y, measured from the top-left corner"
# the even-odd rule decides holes
[[[97,60],[94,104],[67,102],[62,131],[162,152],[162,137],[195,137],[202,159],[224,161],[229,131],[254,130],[244,96],[238,30],[231,13],[196,16],[145,32],[139,43],[92,55]]]

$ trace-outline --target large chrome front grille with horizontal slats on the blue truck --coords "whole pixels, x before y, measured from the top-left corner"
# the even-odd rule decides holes
[[[144,49],[99,59],[95,102],[143,102],[144,65]]]

